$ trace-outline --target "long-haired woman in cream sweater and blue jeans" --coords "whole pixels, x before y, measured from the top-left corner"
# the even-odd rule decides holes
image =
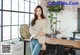
[[[45,50],[45,37],[47,33],[47,20],[44,17],[43,9],[40,5],[35,8],[34,19],[31,22],[31,51],[32,55],[39,55],[41,48]]]

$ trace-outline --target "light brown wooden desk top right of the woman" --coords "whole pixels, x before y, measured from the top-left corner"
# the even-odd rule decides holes
[[[75,40],[64,40],[64,39],[46,37],[46,43],[60,44],[60,45],[65,45],[65,46],[73,46],[73,48],[80,49],[80,41],[75,41]]]

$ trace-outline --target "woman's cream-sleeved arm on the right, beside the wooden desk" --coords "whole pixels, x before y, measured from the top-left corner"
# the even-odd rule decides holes
[[[39,43],[41,43],[42,45],[45,45],[45,37],[47,34],[47,21],[46,20],[43,21],[42,30],[38,34],[39,34],[38,36]]]

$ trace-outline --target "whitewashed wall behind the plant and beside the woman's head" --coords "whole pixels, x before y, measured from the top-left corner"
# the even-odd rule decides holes
[[[80,1],[76,0],[76,2]],[[45,0],[41,0],[41,6],[43,7],[45,16],[48,16],[49,13],[47,11]],[[77,31],[77,8],[79,7],[80,7],[79,5],[74,5],[74,6],[66,5],[64,10],[58,14],[58,20],[61,21],[60,23],[58,23],[58,29],[61,32],[61,35],[59,37],[73,37],[72,32]]]

